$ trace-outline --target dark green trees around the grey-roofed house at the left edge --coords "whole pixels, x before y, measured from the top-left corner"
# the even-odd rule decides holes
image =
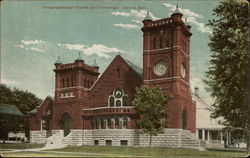
[[[23,113],[24,118],[20,121],[13,121],[16,127],[25,131],[26,136],[29,136],[29,111],[40,105],[42,100],[36,97],[33,93],[28,91],[22,91],[17,88],[10,89],[4,84],[0,84],[0,103],[16,105],[18,109]],[[6,119],[6,118],[5,118]],[[1,129],[4,129],[1,127]],[[16,128],[6,128],[5,131],[17,131]]]

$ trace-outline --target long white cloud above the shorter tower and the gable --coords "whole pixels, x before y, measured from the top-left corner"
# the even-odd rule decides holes
[[[82,44],[60,44],[58,46],[65,47],[70,50],[77,50],[82,52],[86,56],[97,55],[99,57],[110,58],[110,54],[112,53],[124,53],[123,50],[120,50],[115,47],[108,47],[103,44],[94,44],[90,47],[87,47]]]

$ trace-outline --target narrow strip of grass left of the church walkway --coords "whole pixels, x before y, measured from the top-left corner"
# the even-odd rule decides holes
[[[44,144],[30,144],[30,143],[9,143],[0,144],[1,149],[30,149],[30,148],[42,148]]]

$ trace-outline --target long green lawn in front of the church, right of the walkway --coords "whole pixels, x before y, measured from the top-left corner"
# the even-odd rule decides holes
[[[88,152],[115,154],[122,156],[223,156],[223,157],[242,157],[246,153],[239,152],[221,152],[221,151],[199,151],[196,149],[175,149],[175,148],[157,148],[157,147],[114,147],[114,146],[78,146],[54,149],[51,151],[64,152]]]

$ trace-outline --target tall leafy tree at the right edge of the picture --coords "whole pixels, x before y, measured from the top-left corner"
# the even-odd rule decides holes
[[[248,7],[246,1],[227,0],[213,10],[217,18],[208,22],[212,55],[204,80],[215,98],[212,117],[223,116],[226,126],[240,128],[242,134],[250,129]]]

